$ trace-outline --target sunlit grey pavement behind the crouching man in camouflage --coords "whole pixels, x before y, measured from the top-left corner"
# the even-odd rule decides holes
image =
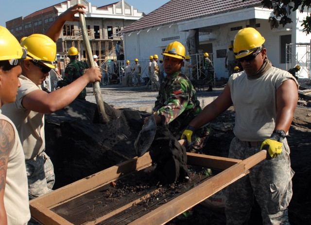
[[[206,90],[199,90],[197,92],[197,97],[202,108],[219,96],[224,90],[224,87],[214,87],[212,92],[207,92]],[[121,84],[101,85],[101,91],[104,102],[112,105],[114,108],[133,108],[146,112],[152,112],[158,94],[158,92],[151,91],[145,86],[124,87]],[[86,92],[86,100],[96,103],[93,88],[87,87]]]

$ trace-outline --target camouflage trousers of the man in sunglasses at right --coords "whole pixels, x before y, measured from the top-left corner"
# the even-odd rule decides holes
[[[260,146],[247,147],[234,138],[229,158],[244,160],[260,151]],[[289,225],[287,207],[292,199],[290,149],[284,139],[282,153],[275,159],[264,160],[250,173],[226,188],[226,225],[248,225],[254,195],[261,209],[264,225]]]

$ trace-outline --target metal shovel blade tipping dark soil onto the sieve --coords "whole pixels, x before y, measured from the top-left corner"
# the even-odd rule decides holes
[[[155,131],[155,116],[151,115],[147,122],[142,126],[134,143],[135,151],[139,157],[143,156],[149,150],[155,138]]]

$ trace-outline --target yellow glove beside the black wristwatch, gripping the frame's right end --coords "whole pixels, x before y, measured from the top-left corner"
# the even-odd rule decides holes
[[[274,131],[270,138],[262,142],[260,150],[267,150],[271,158],[276,158],[282,152],[283,139],[285,138],[285,132],[283,131],[283,133],[284,135]],[[268,157],[268,159],[270,158]]]

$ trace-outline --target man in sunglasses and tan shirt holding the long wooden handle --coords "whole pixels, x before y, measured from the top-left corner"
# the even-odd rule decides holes
[[[66,87],[51,93],[41,90],[42,81],[56,66],[55,42],[66,19],[77,21],[74,15],[86,13],[83,10],[85,8],[86,6],[77,4],[58,16],[47,31],[53,39],[43,34],[32,34],[21,43],[21,47],[27,49],[27,58],[21,62],[22,74],[19,77],[21,86],[16,101],[4,105],[1,109],[17,127],[26,160],[30,199],[51,192],[54,184],[52,161],[44,152],[44,113],[52,113],[69,105],[87,83],[100,81],[102,77],[98,67],[91,67],[82,77]],[[58,35],[55,35],[56,33]],[[19,212],[20,209],[17,209]]]

